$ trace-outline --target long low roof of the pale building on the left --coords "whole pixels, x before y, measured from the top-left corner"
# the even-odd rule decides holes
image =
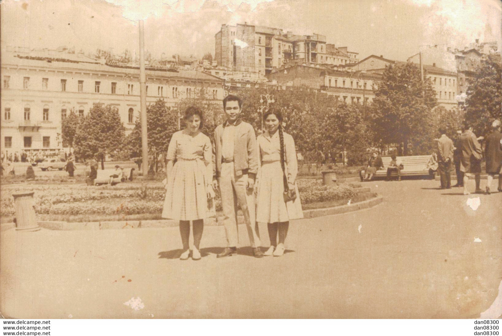
[[[17,53],[5,52],[2,54],[2,67],[15,66],[15,67],[33,67],[45,69],[58,69],[65,71],[89,71],[101,72],[123,76],[124,74],[139,77],[139,67],[134,66],[119,66],[107,65],[100,63],[77,62],[64,59],[40,59],[28,56],[18,55]],[[173,79],[190,79],[190,80],[208,80],[223,82],[219,77],[207,74],[194,69],[153,69],[146,68],[147,76],[169,77]]]

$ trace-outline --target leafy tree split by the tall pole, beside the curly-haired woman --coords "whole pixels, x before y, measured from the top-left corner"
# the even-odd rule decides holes
[[[147,107],[147,133],[148,153],[153,156],[155,163],[161,153],[166,153],[169,141],[174,132],[178,130],[178,114],[166,105],[164,99],[159,99],[155,104]],[[141,120],[136,120],[136,125],[126,138],[130,157],[142,156]],[[154,162],[150,162],[153,164]],[[155,167],[157,165],[155,164]]]

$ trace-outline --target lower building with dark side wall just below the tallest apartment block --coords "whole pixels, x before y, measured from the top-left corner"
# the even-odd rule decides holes
[[[267,78],[277,81],[279,86],[307,86],[349,104],[365,104],[375,97],[373,90],[382,75],[304,63],[287,64],[267,75]]]

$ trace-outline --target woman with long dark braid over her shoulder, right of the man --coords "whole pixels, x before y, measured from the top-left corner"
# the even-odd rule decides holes
[[[263,118],[267,130],[257,138],[261,164],[257,178],[256,220],[268,223],[271,246],[264,254],[279,257],[284,254],[289,221],[303,218],[296,185],[298,162],[295,141],[282,129],[281,112],[269,110]]]

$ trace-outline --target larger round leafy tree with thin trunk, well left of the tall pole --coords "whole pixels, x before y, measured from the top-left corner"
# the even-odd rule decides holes
[[[75,134],[75,155],[84,159],[101,161],[104,169],[105,155],[115,155],[123,143],[125,128],[115,107],[93,104]]]

